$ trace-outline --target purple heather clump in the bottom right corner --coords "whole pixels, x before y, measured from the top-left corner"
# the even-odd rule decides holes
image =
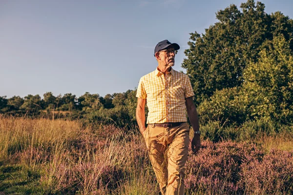
[[[262,160],[241,165],[239,187],[246,194],[293,193],[293,153],[272,150]]]

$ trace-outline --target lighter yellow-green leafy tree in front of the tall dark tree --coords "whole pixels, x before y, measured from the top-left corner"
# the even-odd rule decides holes
[[[203,123],[241,124],[249,119],[293,122],[293,52],[283,36],[264,43],[257,62],[243,71],[240,87],[217,90],[199,106]]]

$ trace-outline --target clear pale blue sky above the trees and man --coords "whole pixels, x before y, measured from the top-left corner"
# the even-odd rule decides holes
[[[157,67],[164,39],[188,49],[215,13],[246,0],[0,0],[0,96],[122,93]],[[261,0],[293,18],[292,0]]]

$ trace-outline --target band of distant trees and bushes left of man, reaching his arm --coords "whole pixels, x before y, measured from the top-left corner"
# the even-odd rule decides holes
[[[85,117],[91,121],[105,121],[106,118],[109,122],[124,126],[135,121],[135,95],[136,90],[128,90],[105,97],[88,92],[81,97],[70,93],[54,96],[52,92],[45,93],[43,98],[40,95],[0,97],[0,113],[34,117]]]

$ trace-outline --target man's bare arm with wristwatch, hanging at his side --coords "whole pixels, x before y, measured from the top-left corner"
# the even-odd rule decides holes
[[[189,117],[189,121],[193,128],[194,132],[199,132],[199,120],[196,107],[193,103],[192,96],[185,98],[186,109]],[[200,134],[194,134],[191,140],[191,149],[194,153],[196,153],[201,147],[200,143]]]

